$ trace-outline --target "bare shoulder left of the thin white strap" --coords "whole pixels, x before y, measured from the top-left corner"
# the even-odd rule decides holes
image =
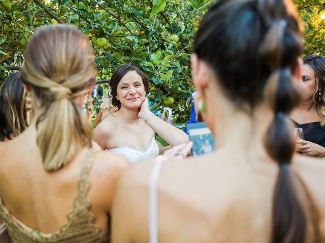
[[[142,235],[139,227],[149,227],[147,188],[153,163],[154,159],[141,161],[122,172],[113,202],[112,242],[132,242]],[[139,242],[149,241],[147,234],[140,238]]]

